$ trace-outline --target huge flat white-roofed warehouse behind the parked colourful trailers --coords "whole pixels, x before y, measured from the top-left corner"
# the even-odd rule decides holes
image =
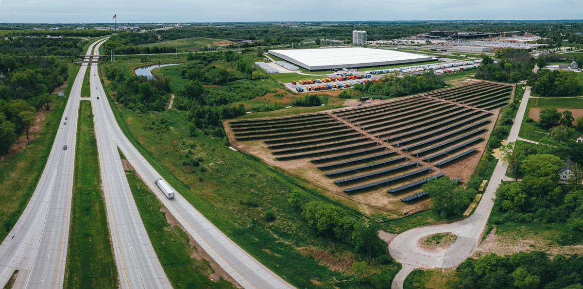
[[[362,47],[269,50],[268,53],[310,71],[406,64],[433,59],[428,55]]]

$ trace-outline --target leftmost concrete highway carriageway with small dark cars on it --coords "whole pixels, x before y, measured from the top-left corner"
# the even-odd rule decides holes
[[[90,45],[88,51],[93,47],[94,44]],[[62,287],[69,239],[79,99],[86,69],[87,64],[79,67],[33,196],[0,245],[0,286],[4,286],[18,269],[14,288]]]

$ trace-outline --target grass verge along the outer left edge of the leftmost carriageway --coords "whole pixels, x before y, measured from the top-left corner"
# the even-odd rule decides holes
[[[79,66],[71,64],[68,68],[65,96],[69,96]],[[51,111],[45,114],[39,132],[31,135],[32,140],[22,152],[0,160],[0,241],[6,238],[37,186],[61,124],[67,99],[55,95],[55,102]]]

